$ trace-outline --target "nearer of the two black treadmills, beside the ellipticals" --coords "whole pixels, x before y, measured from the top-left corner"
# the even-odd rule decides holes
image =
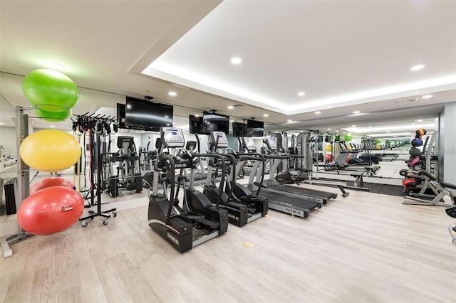
[[[244,148],[247,149],[249,153],[255,154],[257,152],[257,148],[255,147],[254,141],[251,137],[242,137],[242,141]],[[257,161],[254,164],[257,168],[259,165],[263,165],[263,161]],[[253,180],[254,170],[252,169],[249,184],[245,187],[247,187],[249,191],[257,192],[257,194],[259,194],[259,189],[261,196],[268,199],[268,208],[270,209],[281,211],[283,213],[289,213],[291,216],[308,218],[311,211],[314,211],[316,208],[321,208],[321,203],[319,202],[303,199],[299,197],[299,195],[296,195],[296,193],[289,193],[277,190],[276,188],[259,186],[259,184],[254,184]]]

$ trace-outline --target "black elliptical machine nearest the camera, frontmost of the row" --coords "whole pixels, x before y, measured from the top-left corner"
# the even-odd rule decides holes
[[[182,129],[162,127],[160,129],[160,149],[154,164],[152,194],[149,197],[148,224],[162,238],[167,240],[180,252],[227,232],[227,211],[212,206],[212,203],[200,201],[204,206],[201,213],[184,211],[177,214],[175,203],[175,169],[192,166],[193,161],[181,161],[175,157],[176,148],[185,146]],[[170,154],[164,154],[163,148],[169,148]],[[160,174],[166,172],[163,182],[163,193],[158,193]],[[167,198],[167,187],[170,187],[170,198]],[[178,185],[179,186],[179,185]],[[207,207],[206,207],[207,206]],[[177,208],[179,210],[179,208]]]

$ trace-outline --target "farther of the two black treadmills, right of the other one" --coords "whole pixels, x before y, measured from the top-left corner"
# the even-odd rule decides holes
[[[274,139],[272,138],[267,138],[265,140],[266,145],[271,153],[275,153],[277,151],[277,145]],[[284,155],[279,155],[279,154],[269,154],[266,155],[266,158],[271,158],[274,159],[274,163],[271,166],[270,173],[269,173],[269,179],[265,180],[262,184],[262,186],[270,189],[274,189],[276,191],[285,191],[288,193],[293,193],[295,195],[298,195],[300,198],[303,198],[304,200],[307,201],[313,201],[317,203],[323,203],[323,205],[326,205],[328,201],[331,198],[337,198],[337,193],[331,193],[329,191],[318,191],[316,189],[311,189],[311,188],[304,188],[304,187],[297,187],[297,186],[289,186],[285,184],[280,184],[276,180],[274,180],[274,174],[279,168],[279,164],[281,160],[284,159],[289,159],[289,156],[284,156]],[[252,171],[254,171],[253,168]],[[254,178],[254,177],[252,177]],[[254,182],[254,184],[258,183],[259,177],[257,174],[257,182]],[[250,182],[252,183],[252,182]]]

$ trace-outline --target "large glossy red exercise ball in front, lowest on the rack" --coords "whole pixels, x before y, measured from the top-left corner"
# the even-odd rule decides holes
[[[17,212],[17,222],[33,235],[49,235],[76,223],[84,210],[84,200],[77,191],[53,186],[28,196]]]

